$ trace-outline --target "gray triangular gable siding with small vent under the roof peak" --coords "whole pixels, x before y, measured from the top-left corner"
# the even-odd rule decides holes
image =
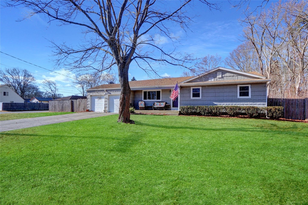
[[[217,72],[221,72],[221,78],[217,78]],[[209,78],[213,77],[213,81],[231,81],[231,80],[246,80],[246,79],[256,79],[256,77],[250,77],[246,75],[240,75],[233,72],[227,72],[224,70],[217,70],[214,73],[209,73],[207,75],[201,76],[189,82],[202,82],[209,81]]]

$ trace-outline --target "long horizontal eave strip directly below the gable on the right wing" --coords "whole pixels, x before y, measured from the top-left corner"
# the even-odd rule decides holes
[[[267,83],[270,79],[258,79],[258,80],[244,80],[244,81],[210,81],[210,82],[195,82],[195,83],[182,83],[181,87],[188,86],[202,86],[202,85],[234,85],[234,84],[251,84],[251,83]]]

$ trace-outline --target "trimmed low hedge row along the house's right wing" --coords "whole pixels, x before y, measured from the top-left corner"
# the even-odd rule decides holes
[[[265,116],[272,119],[278,119],[283,116],[283,107],[255,107],[255,106],[181,106],[182,115],[200,115],[200,116],[239,116],[246,115],[250,118]]]

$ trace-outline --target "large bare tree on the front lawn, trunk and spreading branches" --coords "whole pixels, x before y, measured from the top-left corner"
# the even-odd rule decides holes
[[[7,6],[26,6],[34,14],[45,14],[50,21],[73,24],[83,27],[87,42],[79,47],[66,44],[56,45],[58,64],[72,69],[96,69],[102,71],[116,66],[121,86],[119,122],[133,123],[130,120],[128,69],[132,61],[148,65],[146,72],[153,71],[153,61],[186,66],[192,62],[188,54],[163,50],[157,36],[177,40],[168,28],[167,22],[187,28],[191,22],[185,7],[192,0],[176,2],[178,7],[171,9],[168,2],[155,0],[136,1],[45,1],[13,0]],[[202,0],[210,9],[218,9],[215,2]],[[159,58],[153,55],[160,52]],[[111,57],[111,58],[110,58]],[[89,63],[91,62],[91,63]],[[186,66],[187,67],[187,66]]]

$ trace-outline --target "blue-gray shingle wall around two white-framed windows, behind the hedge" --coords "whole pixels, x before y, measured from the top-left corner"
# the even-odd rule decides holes
[[[251,98],[237,98],[237,85],[201,86],[201,99],[191,99],[191,87],[181,87],[180,105],[266,106],[266,83],[251,85]]]

